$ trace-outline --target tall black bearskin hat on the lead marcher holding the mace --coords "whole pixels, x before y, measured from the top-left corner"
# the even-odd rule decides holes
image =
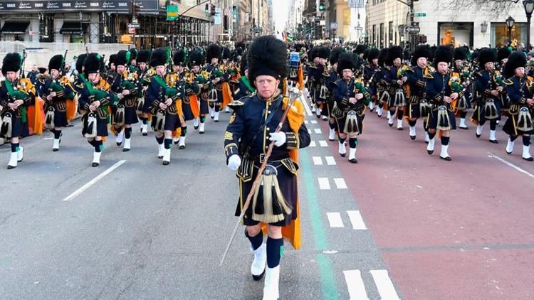
[[[271,75],[283,79],[288,73],[286,43],[275,36],[260,36],[248,46],[248,79],[251,82],[259,75]]]

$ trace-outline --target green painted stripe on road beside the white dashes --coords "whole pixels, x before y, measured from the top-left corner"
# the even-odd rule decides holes
[[[306,149],[300,150],[300,164],[303,176],[304,188],[306,193],[306,206],[310,210],[310,219],[313,231],[313,240],[315,241],[315,250],[326,251],[328,248],[328,239],[326,237],[325,227],[321,219],[319,204],[317,202],[317,188],[312,176],[310,157]],[[317,262],[321,277],[321,288],[323,289],[323,299],[338,300],[340,298],[337,292],[337,284],[333,274],[332,263],[330,258],[323,253],[317,255]]]

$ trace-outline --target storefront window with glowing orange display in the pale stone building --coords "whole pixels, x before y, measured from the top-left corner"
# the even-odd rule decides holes
[[[463,45],[473,45],[473,23],[438,23],[438,44],[453,45],[460,47]]]

